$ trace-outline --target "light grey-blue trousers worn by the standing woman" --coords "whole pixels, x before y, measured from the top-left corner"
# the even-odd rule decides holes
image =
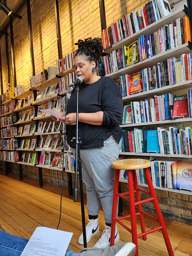
[[[87,189],[87,211],[98,215],[102,205],[105,222],[111,223],[115,170],[111,163],[118,159],[121,141],[113,135],[104,141],[104,147],[80,149],[82,178]],[[75,148],[71,148],[75,156]]]

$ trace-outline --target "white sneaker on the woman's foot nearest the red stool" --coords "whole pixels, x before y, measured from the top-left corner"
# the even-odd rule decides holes
[[[110,246],[111,227],[105,226],[105,230],[93,248],[106,248]],[[119,232],[115,226],[115,243],[119,241]]]

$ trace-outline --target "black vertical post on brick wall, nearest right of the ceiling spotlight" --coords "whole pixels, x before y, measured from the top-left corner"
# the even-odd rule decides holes
[[[32,68],[32,76],[34,76],[35,75],[35,62],[34,62],[33,36],[32,36],[32,25],[31,25],[30,0],[27,0],[27,17],[28,17],[30,53],[31,53],[31,68]]]

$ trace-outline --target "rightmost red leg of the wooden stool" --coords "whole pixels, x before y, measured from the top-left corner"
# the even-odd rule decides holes
[[[148,187],[149,187],[150,194],[154,198],[154,201],[153,201],[154,202],[154,207],[155,207],[155,210],[156,210],[156,214],[158,216],[159,223],[162,226],[162,234],[163,234],[164,241],[165,241],[165,244],[166,244],[166,247],[167,247],[167,251],[169,253],[169,256],[174,256],[173,249],[172,249],[172,246],[171,246],[171,243],[170,243],[170,240],[169,240],[169,236],[168,236],[168,233],[167,233],[167,230],[166,230],[166,226],[165,226],[165,223],[164,223],[164,220],[163,220],[161,209],[160,209],[160,206],[159,206],[159,203],[158,203],[158,200],[157,200],[156,192],[154,190],[154,186],[153,186],[153,183],[151,181],[151,177],[150,177],[148,168],[145,168],[144,172],[145,172],[145,178],[147,180],[147,184],[148,184]]]

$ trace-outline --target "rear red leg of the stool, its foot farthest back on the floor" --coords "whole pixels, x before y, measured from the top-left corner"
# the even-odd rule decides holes
[[[141,198],[140,198],[140,194],[139,194],[139,190],[138,190],[138,182],[137,182],[136,171],[132,170],[132,174],[133,174],[133,184],[134,184],[136,201],[140,202]],[[137,209],[138,209],[138,212],[139,212],[139,220],[140,220],[140,224],[141,224],[141,231],[142,231],[142,233],[145,233],[145,222],[144,222],[144,218],[143,218],[142,206],[141,205],[137,205]],[[146,235],[143,236],[143,240],[147,240],[147,236]]]

